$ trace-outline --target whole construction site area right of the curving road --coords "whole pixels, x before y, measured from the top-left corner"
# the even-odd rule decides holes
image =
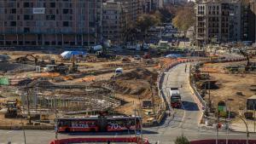
[[[246,52],[241,56],[242,61],[211,60],[192,68],[195,89],[207,102],[206,112],[216,117],[248,118],[247,99],[256,94],[256,57]],[[253,112],[250,113],[253,118]]]

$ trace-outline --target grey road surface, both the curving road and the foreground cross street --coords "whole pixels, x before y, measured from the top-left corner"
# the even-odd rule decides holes
[[[184,72],[186,64],[181,64],[166,72],[162,85],[162,90],[166,100],[170,98],[167,95],[167,89],[170,87],[182,87],[180,92],[182,95],[183,107],[181,109],[172,109],[172,116],[167,117],[163,124],[154,128],[143,129],[143,137],[148,138],[149,141],[155,143],[159,141],[160,144],[172,144],[179,135],[186,135],[189,140],[198,139],[215,139],[215,131],[201,130],[199,111],[195,101],[192,98],[189,90],[189,72]],[[189,64],[187,64],[189,67]],[[26,144],[47,144],[50,140],[55,139],[54,130],[26,130]],[[117,137],[127,136],[127,133],[71,133],[59,134],[59,138],[67,137]],[[219,138],[225,139],[226,133],[220,132]],[[230,133],[230,139],[246,139],[244,133]],[[250,136],[255,139],[256,135]],[[0,130],[0,144],[7,144],[11,141],[12,144],[22,144],[24,141],[24,133],[22,130]]]

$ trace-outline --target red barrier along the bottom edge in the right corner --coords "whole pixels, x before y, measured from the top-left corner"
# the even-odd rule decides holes
[[[229,140],[229,144],[246,144],[246,140]],[[216,144],[216,140],[190,141],[190,144]],[[218,140],[218,144],[226,144],[226,140]],[[248,144],[256,144],[256,140],[249,140]]]

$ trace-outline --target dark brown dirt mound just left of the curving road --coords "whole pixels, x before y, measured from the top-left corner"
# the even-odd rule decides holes
[[[152,78],[152,79],[151,79]],[[125,72],[118,77],[117,80],[133,80],[133,79],[143,79],[146,81],[152,80],[152,82],[156,81],[157,72],[150,72],[146,68],[137,68],[131,72]]]

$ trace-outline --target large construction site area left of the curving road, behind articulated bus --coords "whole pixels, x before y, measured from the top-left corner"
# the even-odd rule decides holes
[[[158,118],[160,59],[149,54],[0,55],[0,126],[49,125],[63,116],[140,115],[143,123]]]

